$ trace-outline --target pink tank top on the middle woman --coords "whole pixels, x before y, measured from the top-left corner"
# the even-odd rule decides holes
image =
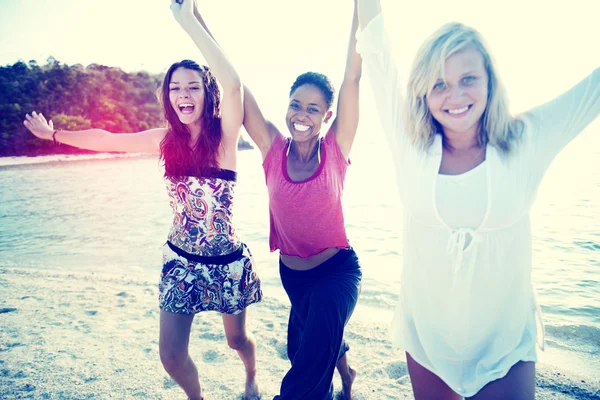
[[[330,247],[349,247],[342,193],[349,162],[329,130],[321,143],[321,164],[310,178],[294,182],[287,173],[289,138],[278,135],[263,161],[271,230],[269,245],[287,256],[308,258]]]

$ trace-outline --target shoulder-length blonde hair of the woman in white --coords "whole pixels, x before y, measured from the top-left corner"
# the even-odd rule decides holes
[[[435,135],[442,133],[427,106],[427,96],[439,77],[444,77],[444,65],[451,55],[472,46],[483,56],[488,74],[487,107],[479,128],[479,143],[490,144],[508,154],[519,137],[520,122],[508,111],[504,87],[496,72],[485,40],[475,29],[452,22],[441,26],[419,48],[413,62],[406,90],[407,133],[413,144],[425,150]]]

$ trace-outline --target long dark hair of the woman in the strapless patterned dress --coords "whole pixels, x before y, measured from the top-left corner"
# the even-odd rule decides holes
[[[189,146],[190,130],[179,120],[169,99],[169,83],[177,68],[197,71],[204,85],[201,131],[193,149]],[[221,94],[217,80],[208,67],[191,60],[174,63],[165,74],[159,99],[167,122],[167,134],[160,143],[160,159],[165,163],[165,176],[203,176],[208,169],[218,167],[217,154],[222,136]]]

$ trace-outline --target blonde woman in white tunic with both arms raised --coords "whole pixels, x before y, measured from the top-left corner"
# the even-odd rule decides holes
[[[480,34],[451,23],[418,51],[404,96],[379,1],[359,0],[359,20],[403,205],[390,338],[415,398],[533,399],[529,212],[554,157],[600,113],[600,69],[514,118]]]

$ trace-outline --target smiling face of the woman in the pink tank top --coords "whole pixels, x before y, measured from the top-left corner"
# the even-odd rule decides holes
[[[323,123],[331,118],[321,90],[314,85],[299,86],[290,96],[286,124],[295,141],[318,136]]]

